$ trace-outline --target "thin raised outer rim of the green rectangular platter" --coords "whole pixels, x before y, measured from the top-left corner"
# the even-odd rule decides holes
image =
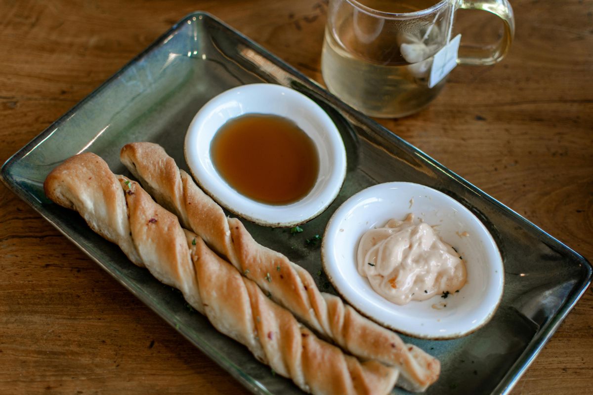
[[[99,266],[101,266],[101,268],[103,268],[108,274],[110,274],[111,277],[115,278],[117,282],[122,284],[123,287],[125,287],[128,291],[130,291],[130,293],[132,293],[134,296],[138,297],[144,304],[146,304],[146,306],[148,306],[152,311],[157,313],[158,316],[160,316],[162,319],[164,319],[165,322],[169,323],[169,325],[171,325],[175,330],[177,330],[177,332],[181,333],[181,335],[183,335],[184,338],[186,338],[190,343],[195,345],[202,352],[204,352],[206,355],[208,355],[208,357],[210,357],[210,355],[209,355],[210,352],[206,351],[205,346],[196,344],[196,342],[194,342],[193,339],[190,338],[189,334],[185,333],[183,330],[180,330],[180,327],[176,326],[176,324],[172,320],[168,319],[167,316],[165,316],[164,314],[161,314],[160,311],[155,306],[152,306],[152,304],[149,303],[149,301],[146,300],[144,296],[141,296],[140,294],[136,293],[135,290],[133,290],[127,284],[125,284],[125,282],[123,282],[122,279],[120,279],[116,274],[114,274],[109,269],[107,269],[106,266],[104,266],[97,258],[95,258],[89,251],[87,251],[84,248],[84,246],[82,246],[80,243],[76,242],[76,240],[72,239],[72,237],[67,235],[65,233],[65,231],[63,229],[61,229],[56,223],[54,223],[49,217],[47,217],[46,214],[44,214],[42,212],[42,210],[40,210],[38,207],[36,207],[36,203],[35,203],[32,195],[29,194],[26,190],[24,190],[23,188],[21,188],[18,185],[18,182],[16,182],[14,180],[14,178],[11,177],[11,172],[10,172],[12,166],[14,166],[15,163],[17,163],[19,160],[23,159],[28,154],[28,152],[35,149],[35,147],[38,146],[39,144],[43,143],[44,140],[48,139],[53,134],[53,131],[56,129],[56,127],[65,123],[65,121],[68,120],[68,118],[72,114],[74,114],[76,111],[78,111],[79,108],[82,107],[84,104],[86,104],[88,101],[90,101],[90,99],[94,98],[98,94],[98,92],[102,91],[103,89],[106,89],[107,86],[109,86],[112,81],[119,78],[119,76],[121,76],[124,72],[126,72],[127,69],[131,68],[133,65],[135,65],[136,62],[141,60],[142,57],[146,56],[147,54],[149,54],[153,50],[155,50],[156,47],[158,47],[160,44],[163,43],[163,41],[165,40],[166,37],[170,36],[171,33],[174,33],[176,30],[178,30],[178,28],[180,28],[181,25],[183,25],[187,21],[191,20],[192,18],[197,18],[197,17],[200,17],[200,19],[207,18],[207,19],[211,20],[213,23],[218,24],[221,27],[224,27],[231,34],[234,34],[236,36],[236,38],[238,38],[238,40],[243,41],[243,43],[246,44],[248,47],[251,47],[251,48],[257,50],[263,57],[265,57],[270,62],[274,63],[276,66],[279,66],[280,69],[283,69],[286,72],[288,72],[289,74],[291,74],[293,77],[295,77],[295,79],[300,80],[300,82],[305,82],[305,83],[310,84],[310,86],[307,86],[307,88],[313,89],[315,94],[321,95],[322,97],[325,97],[325,98],[330,98],[331,104],[334,107],[338,108],[339,110],[341,110],[345,113],[348,113],[351,117],[355,118],[356,121],[358,121],[359,123],[365,124],[366,126],[371,127],[372,129],[380,131],[382,133],[381,137],[388,139],[388,140],[393,140],[394,144],[404,146],[407,149],[407,151],[409,151],[410,153],[418,155],[418,156],[420,156],[420,158],[430,162],[433,166],[435,166],[435,168],[439,169],[440,171],[445,172],[445,174],[448,174],[452,179],[454,179],[456,182],[463,185],[468,190],[472,191],[474,194],[479,194],[481,198],[489,201],[489,203],[495,205],[500,210],[507,211],[512,217],[514,217],[516,220],[521,222],[525,227],[531,228],[535,233],[538,233],[540,236],[547,237],[547,239],[549,239],[551,242],[553,242],[557,247],[565,250],[566,254],[572,255],[573,258],[576,259],[576,261],[579,261],[579,263],[581,264],[581,267],[582,267],[582,272],[583,272],[582,273],[583,279],[582,279],[582,282],[580,283],[581,284],[580,290],[578,292],[575,292],[575,294],[572,296],[572,298],[569,297],[569,298],[566,298],[565,300],[563,300],[563,303],[560,304],[557,314],[551,317],[550,321],[547,322],[546,325],[544,326],[544,329],[540,329],[540,331],[538,333],[536,333],[536,335],[533,338],[531,338],[531,341],[529,343],[527,343],[527,346],[526,346],[524,352],[522,352],[521,355],[519,355],[519,357],[517,358],[515,363],[511,365],[511,367],[509,368],[508,371],[506,371],[506,374],[502,377],[498,386],[496,386],[492,392],[492,393],[500,393],[500,394],[510,393],[512,388],[515,386],[515,384],[517,384],[517,382],[522,377],[522,375],[527,370],[527,368],[530,367],[530,365],[533,363],[533,361],[535,360],[537,355],[544,348],[546,343],[550,341],[551,337],[556,332],[556,330],[558,329],[560,324],[566,319],[566,316],[568,316],[568,313],[570,313],[570,311],[573,309],[573,307],[578,302],[578,300],[586,292],[589,285],[591,285],[591,282],[593,280],[593,265],[591,264],[591,262],[589,262],[588,259],[586,259],[581,254],[579,254],[578,252],[574,251],[572,248],[567,246],[565,243],[556,239],[556,237],[551,236],[545,230],[541,229],[541,227],[537,226],[530,220],[521,216],[521,214],[517,213],[517,211],[513,210],[512,208],[508,207],[507,205],[505,205],[503,203],[500,203],[500,201],[496,200],[495,198],[491,197],[489,194],[485,193],[480,188],[471,184],[470,182],[468,182],[466,179],[464,179],[457,173],[455,173],[455,172],[451,171],[450,169],[448,169],[447,167],[443,166],[441,163],[439,163],[435,159],[431,158],[431,156],[427,155],[422,150],[413,146],[413,144],[411,144],[411,143],[407,142],[406,140],[402,139],[401,137],[397,136],[397,134],[395,132],[388,130],[386,127],[382,126],[377,121],[373,120],[370,117],[367,117],[366,115],[360,113],[358,110],[355,110],[354,108],[345,104],[339,98],[335,97],[333,94],[331,94],[325,88],[323,88],[323,86],[321,86],[317,81],[314,81],[313,79],[308,78],[303,73],[299,72],[299,70],[295,69],[293,66],[289,65],[288,63],[286,63],[285,61],[280,59],[278,56],[276,56],[275,54],[269,52],[269,50],[260,46],[260,44],[256,43],[256,41],[251,40],[250,38],[245,36],[240,31],[236,30],[235,28],[232,28],[230,25],[224,23],[223,21],[219,20],[218,18],[214,17],[212,14],[209,14],[208,12],[205,12],[205,11],[190,12],[189,14],[187,14],[186,16],[181,18],[177,23],[172,25],[167,31],[165,31],[160,36],[158,36],[154,41],[152,41],[151,44],[149,44],[148,47],[146,47],[144,50],[142,50],[142,52],[140,52],[139,54],[134,56],[131,60],[129,60],[129,62],[127,62],[124,66],[122,66],[122,68],[120,68],[119,70],[117,70],[117,72],[115,72],[113,75],[111,75],[109,78],[107,78],[106,81],[102,82],[99,86],[97,86],[97,88],[93,89],[93,91],[91,91],[90,94],[88,94],[84,98],[82,98],[81,101],[77,102],[72,108],[70,108],[68,111],[66,111],[66,113],[61,115],[56,121],[54,121],[52,124],[50,124],[48,127],[46,127],[46,129],[44,129],[40,134],[38,134],[36,137],[34,137],[32,140],[30,140],[30,142],[25,144],[25,146],[23,146],[21,149],[19,149],[17,152],[15,152],[12,156],[10,156],[5,161],[5,163],[2,165],[2,168],[0,168],[0,180],[2,180],[2,182],[4,182],[4,184],[8,187],[8,189],[11,190],[15,195],[17,195],[17,197],[21,198],[27,204],[29,204],[31,206],[31,208],[33,208],[33,210],[37,211],[37,213],[39,213],[44,219],[46,219],[50,224],[52,224],[53,227],[55,227],[60,233],[62,233],[62,235],[66,236],[66,238],[69,239],[72,243],[74,243],[74,245],[76,247],[81,249],[81,251],[84,252],[85,255],[87,255],[95,263],[97,263]],[[578,284],[579,284],[579,282],[577,282],[577,284],[575,284],[575,289],[578,289],[578,286],[577,286]],[[240,370],[238,371],[233,365],[224,364],[223,363],[224,361],[218,361],[213,358],[210,358],[210,359],[213,362],[215,362],[216,364],[218,364],[219,366],[221,366],[222,368],[224,368],[227,372],[229,372],[229,374],[231,374],[232,377],[234,377],[235,379],[240,381],[240,383],[243,384],[243,386],[245,386],[251,392],[257,393],[257,394],[270,394],[266,388],[257,386],[252,381],[247,380],[247,378],[244,377],[242,372]]]

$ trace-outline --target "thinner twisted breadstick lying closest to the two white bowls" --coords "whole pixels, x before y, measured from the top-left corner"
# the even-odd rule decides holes
[[[161,146],[127,144],[120,158],[159,203],[177,214],[184,227],[200,235],[215,252],[321,336],[357,357],[399,368],[397,385],[407,390],[423,391],[436,381],[441,370],[438,359],[405,344],[396,333],[361,316],[339,297],[321,293],[305,269],[259,245],[241,221],[227,218]]]

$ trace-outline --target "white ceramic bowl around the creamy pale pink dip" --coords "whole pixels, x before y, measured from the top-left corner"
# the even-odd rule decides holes
[[[356,251],[363,233],[391,218],[403,220],[408,213],[437,225],[441,239],[463,256],[467,283],[458,293],[399,306],[375,293],[358,274]],[[321,257],[331,283],[356,310],[417,338],[468,335],[492,318],[502,298],[502,258],[486,227],[458,201],[420,184],[388,182],[350,197],[327,224]]]

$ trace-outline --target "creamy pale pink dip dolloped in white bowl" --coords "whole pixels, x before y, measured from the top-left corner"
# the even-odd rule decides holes
[[[454,293],[466,284],[466,265],[432,226],[391,219],[366,232],[358,245],[358,272],[396,304]]]

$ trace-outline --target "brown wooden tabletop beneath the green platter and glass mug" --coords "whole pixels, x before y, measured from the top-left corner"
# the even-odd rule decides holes
[[[593,2],[512,4],[502,63],[381,122],[591,261]],[[323,81],[326,1],[0,0],[0,160],[196,9]],[[592,365],[589,289],[514,393],[590,393]],[[42,392],[246,391],[1,185],[0,393]]]

